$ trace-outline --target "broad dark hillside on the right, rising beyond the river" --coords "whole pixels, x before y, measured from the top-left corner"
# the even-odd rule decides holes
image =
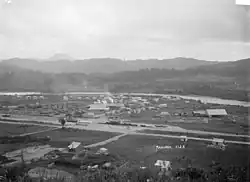
[[[114,92],[194,94],[249,100],[250,59],[186,70],[144,69],[102,75]],[[98,75],[96,76],[98,77]]]

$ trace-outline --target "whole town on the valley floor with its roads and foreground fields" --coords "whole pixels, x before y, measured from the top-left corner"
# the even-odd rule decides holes
[[[239,122],[247,113],[235,112],[241,106],[150,94],[1,97],[1,165],[36,166],[28,171],[34,179],[70,181],[81,171],[126,170],[128,165],[153,166],[167,174],[180,166],[195,167],[196,150],[216,156],[237,147],[244,157],[250,144],[246,123]],[[131,151],[123,151],[126,142]],[[143,142],[147,145],[140,148]],[[184,159],[177,160],[179,155]]]

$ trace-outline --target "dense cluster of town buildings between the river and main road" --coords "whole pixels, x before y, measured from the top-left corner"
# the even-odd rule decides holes
[[[208,123],[210,117],[225,117],[227,111],[225,109],[196,109],[196,105],[192,105],[189,100],[183,100],[178,96],[131,96],[129,94],[116,94],[116,95],[58,95],[61,98],[60,103],[40,104],[41,99],[47,99],[47,96],[20,96],[27,99],[37,99],[35,104],[28,104],[26,106],[4,106],[0,110],[8,110],[5,114],[20,113],[34,116],[47,116],[65,118],[68,122],[75,122],[80,125],[91,123],[91,119],[100,118],[101,114],[108,117],[109,123],[122,124],[128,123],[133,118],[143,116],[146,111],[153,112],[151,115],[152,120],[163,120],[167,122],[187,122],[190,118],[197,118],[197,122]],[[80,102],[71,102],[80,101]],[[180,101],[179,103],[177,101]],[[84,105],[84,103],[90,103]],[[172,109],[169,103],[174,104]],[[186,104],[185,105],[183,105]],[[182,104],[182,106],[180,106]],[[178,106],[179,105],[179,106]],[[189,107],[187,109],[182,107]],[[192,107],[193,106],[193,107]],[[7,108],[6,108],[7,107]],[[185,111],[185,112],[184,112]],[[152,121],[153,123],[153,121]]]

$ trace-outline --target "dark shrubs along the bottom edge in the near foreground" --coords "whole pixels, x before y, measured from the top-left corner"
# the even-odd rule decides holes
[[[6,181],[30,182],[31,179],[27,176],[27,168],[14,167],[4,169],[6,172]],[[247,168],[235,167],[223,169],[215,168],[213,171],[205,172],[197,168],[185,168],[173,170],[171,172],[163,172],[156,168],[126,168],[120,169],[100,169],[100,170],[83,170],[76,174],[76,182],[212,182],[212,181],[249,181],[247,178]],[[41,180],[40,180],[41,181]],[[42,180],[43,181],[43,180]],[[53,182],[64,182],[63,179],[50,179]]]

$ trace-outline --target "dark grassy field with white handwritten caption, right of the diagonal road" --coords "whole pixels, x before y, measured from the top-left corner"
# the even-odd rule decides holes
[[[126,136],[120,140],[105,145],[110,152],[118,154],[131,163],[139,163],[144,166],[152,165],[156,160],[169,160],[173,167],[186,167],[186,159],[178,159],[185,156],[194,167],[209,168],[212,161],[220,162],[222,166],[248,165],[249,148],[241,145],[229,145],[225,151],[207,148],[204,142],[188,141],[185,149],[172,149],[169,151],[155,151],[156,145],[175,146],[180,144],[179,139],[166,139],[151,136]]]

